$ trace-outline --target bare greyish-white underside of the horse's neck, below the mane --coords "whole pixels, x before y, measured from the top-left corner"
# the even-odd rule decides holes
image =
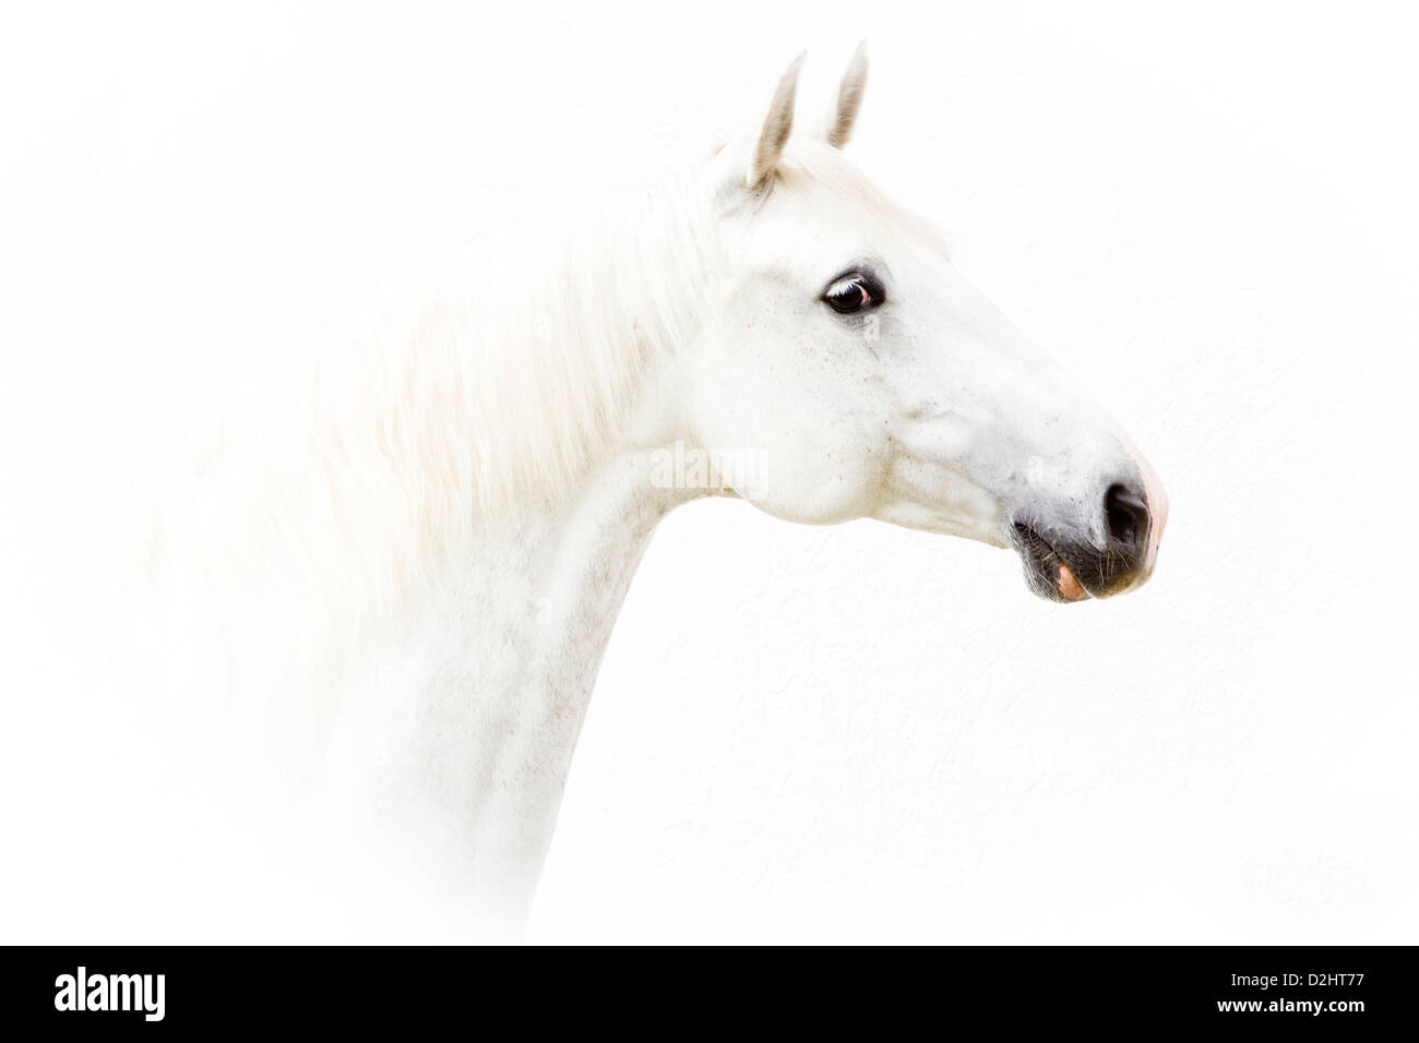
[[[426,823],[416,843],[453,853],[453,874],[514,915],[531,901],[641,555],[657,522],[702,492],[657,487],[654,444],[617,446],[563,498],[451,561],[402,643],[400,685],[353,707],[336,742],[356,792],[403,793],[389,819]],[[376,778],[372,741],[394,751]]]

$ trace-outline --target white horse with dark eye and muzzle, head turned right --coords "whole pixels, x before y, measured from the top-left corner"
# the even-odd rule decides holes
[[[1152,572],[1149,465],[843,156],[861,50],[790,135],[800,61],[697,169],[413,272],[223,421],[145,532],[160,680],[261,697],[267,735],[299,718],[350,815],[512,907],[675,507],[1009,546],[1057,602]]]

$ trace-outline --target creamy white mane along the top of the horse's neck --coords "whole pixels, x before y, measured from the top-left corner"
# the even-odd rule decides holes
[[[138,590],[211,613],[226,668],[291,626],[359,643],[623,433],[695,329],[718,234],[698,200],[667,176],[409,267],[160,477]]]

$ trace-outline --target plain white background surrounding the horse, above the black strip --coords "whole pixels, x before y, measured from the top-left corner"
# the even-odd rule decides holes
[[[867,37],[853,155],[1152,458],[1158,572],[1061,607],[978,545],[677,512],[532,938],[1413,942],[1403,11],[11,6],[4,698],[71,654],[128,475],[360,285],[702,155],[809,44],[816,121]]]

